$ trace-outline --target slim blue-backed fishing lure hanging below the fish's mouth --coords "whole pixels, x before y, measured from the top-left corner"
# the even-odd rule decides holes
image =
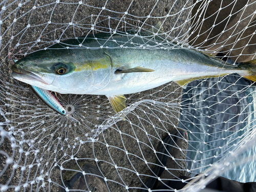
[[[75,118],[71,117],[65,108],[57,101],[57,99],[51,94],[50,91],[44,90],[35,86],[31,86],[34,92],[55,112],[60,115],[64,115],[73,121],[77,121]]]

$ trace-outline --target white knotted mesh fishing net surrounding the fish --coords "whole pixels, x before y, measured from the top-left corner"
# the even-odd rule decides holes
[[[255,59],[254,0],[4,0],[0,10],[1,191],[68,191],[65,173],[82,173],[84,162],[100,170],[110,191],[151,191],[145,182],[158,179],[153,173],[158,146],[172,130],[188,133],[188,148],[182,150],[187,166],[178,168],[195,178],[186,190],[198,191],[216,176],[256,181],[256,93],[254,82],[238,74],[196,80],[186,89],[169,82],[126,95],[124,118],[105,96],[57,94],[78,122],[51,110],[11,77],[14,59],[56,42],[101,32],[125,36],[132,30],[140,36],[158,22],[164,33],[153,31],[134,49],[184,46],[238,65]],[[116,42],[116,48],[127,43]],[[63,46],[69,48],[106,47]]]

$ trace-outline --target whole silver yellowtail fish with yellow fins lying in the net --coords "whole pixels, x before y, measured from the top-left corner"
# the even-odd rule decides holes
[[[184,87],[196,79],[231,73],[256,81],[256,60],[233,66],[177,44],[172,44],[175,49],[160,49],[169,43],[153,35],[162,33],[160,26],[147,32],[99,33],[59,42],[16,61],[12,76],[61,94],[106,95],[117,113],[125,108],[124,94],[170,81]]]

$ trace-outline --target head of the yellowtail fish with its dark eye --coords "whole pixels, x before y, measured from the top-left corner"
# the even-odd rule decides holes
[[[43,50],[17,60],[12,66],[12,76],[32,86],[63,94],[90,94],[95,90],[94,61],[81,61],[72,52]],[[98,72],[105,79],[102,70]],[[104,83],[97,83],[105,86]],[[95,89],[100,89],[97,87]]]

